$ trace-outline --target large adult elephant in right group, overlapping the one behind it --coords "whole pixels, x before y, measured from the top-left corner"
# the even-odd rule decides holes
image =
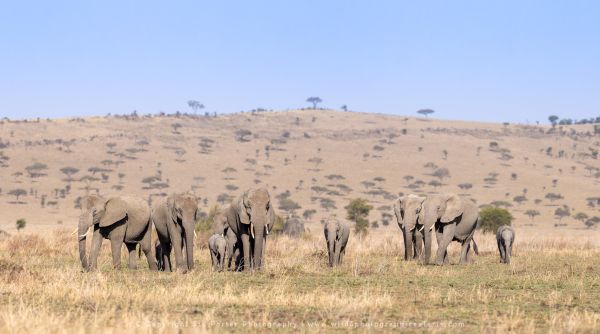
[[[421,205],[418,220],[423,224],[425,236],[425,263],[431,254],[431,230],[435,229],[438,244],[435,264],[448,262],[448,245],[452,241],[461,243],[460,263],[468,262],[468,255],[473,242],[473,249],[479,254],[473,239],[479,208],[467,198],[452,193],[428,195]]]

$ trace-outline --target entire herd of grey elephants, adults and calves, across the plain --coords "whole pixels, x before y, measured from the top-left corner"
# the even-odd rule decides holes
[[[404,259],[421,259],[429,263],[431,239],[435,231],[438,244],[435,264],[448,263],[448,245],[460,242],[460,263],[471,262],[471,244],[478,254],[473,238],[479,220],[475,201],[456,194],[414,194],[394,201],[394,213],[404,239]],[[198,199],[191,194],[173,194],[150,207],[137,197],[103,198],[87,196],[82,202],[79,218],[79,259],[85,270],[97,269],[98,254],[103,239],[110,240],[113,266],[118,268],[121,248],[129,252],[129,268],[137,268],[136,249],[144,253],[150,270],[186,273],[194,267],[195,225]],[[220,210],[213,218],[215,234],[208,240],[213,270],[260,270],[264,264],[267,236],[273,229],[275,212],[265,188],[250,189]],[[152,226],[158,239],[152,252]],[[88,230],[93,228],[91,249],[86,252]],[[348,223],[335,217],[327,219],[324,236],[330,267],[344,258],[350,236]],[[497,233],[500,262],[510,263],[515,232],[502,226]],[[171,250],[175,263],[171,263]]]

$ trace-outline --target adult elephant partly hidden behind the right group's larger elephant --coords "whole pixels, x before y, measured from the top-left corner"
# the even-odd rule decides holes
[[[425,201],[425,197],[410,194],[400,196],[394,202],[394,213],[404,239],[404,260],[406,261],[418,259],[421,256],[423,241],[426,244],[426,252],[427,249],[431,252],[431,230],[428,228],[427,231],[423,231],[423,223],[417,218],[423,201]],[[425,256],[429,259],[429,253]]]

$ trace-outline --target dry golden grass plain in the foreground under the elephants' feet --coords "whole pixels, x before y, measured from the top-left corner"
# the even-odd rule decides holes
[[[111,268],[83,273],[69,231],[0,242],[2,332],[238,332],[285,329],[434,332],[594,332],[600,250],[578,240],[519,235],[501,265],[478,236],[473,265],[405,262],[399,233],[351,236],[345,263],[326,267],[322,236],[274,237],[255,273],[213,273],[197,246],[187,275]],[[124,255],[125,256],[125,255]],[[458,247],[451,248],[451,262]]]

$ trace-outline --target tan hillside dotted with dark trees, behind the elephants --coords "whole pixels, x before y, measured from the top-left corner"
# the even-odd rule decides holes
[[[520,229],[598,240],[600,224],[574,217],[600,216],[600,136],[593,125],[551,129],[330,110],[5,119],[0,229],[15,232],[19,218],[29,232],[72,228],[88,192],[152,200],[191,191],[208,211],[266,185],[278,203],[297,203],[296,214],[315,210],[308,226],[363,197],[375,207],[372,231],[397,231],[399,193],[448,191],[507,207]],[[564,205],[571,216],[559,219]]]

